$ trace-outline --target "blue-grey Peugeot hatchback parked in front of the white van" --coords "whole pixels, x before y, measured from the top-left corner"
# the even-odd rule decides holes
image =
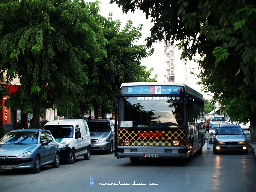
[[[5,134],[0,140],[0,169],[31,169],[59,167],[60,149],[48,130],[18,129]]]

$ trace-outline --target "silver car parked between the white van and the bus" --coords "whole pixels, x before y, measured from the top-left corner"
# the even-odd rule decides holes
[[[105,151],[113,153],[115,141],[115,128],[113,119],[89,120],[87,124],[91,134],[92,151]]]

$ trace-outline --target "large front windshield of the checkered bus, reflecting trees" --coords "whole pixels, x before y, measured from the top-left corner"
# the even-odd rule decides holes
[[[130,127],[138,128],[184,126],[184,100],[183,96],[177,95],[121,97],[119,122],[132,122]]]

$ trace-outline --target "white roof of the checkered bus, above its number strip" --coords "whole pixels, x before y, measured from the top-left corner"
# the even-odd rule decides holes
[[[198,99],[201,99],[204,101],[203,95],[196,91],[195,89],[189,87],[188,85],[184,83],[173,83],[173,82],[132,82],[132,83],[122,83],[122,87],[127,86],[183,86],[185,87],[186,93],[190,94],[192,97],[196,97]]]

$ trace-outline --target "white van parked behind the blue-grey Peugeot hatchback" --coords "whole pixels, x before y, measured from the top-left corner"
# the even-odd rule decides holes
[[[90,159],[90,131],[84,119],[49,121],[43,129],[50,130],[54,139],[59,143],[61,161],[73,164],[76,157],[82,155],[85,160]]]

